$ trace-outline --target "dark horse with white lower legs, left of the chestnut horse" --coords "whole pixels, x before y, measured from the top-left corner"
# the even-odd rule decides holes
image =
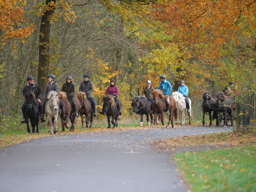
[[[140,126],[143,125],[143,115],[147,116],[147,125],[150,126],[149,123],[149,115],[151,118],[151,125],[153,125],[153,115],[149,114],[151,111],[151,102],[146,97],[136,96],[131,100],[131,106],[133,107],[133,112],[140,114]]]

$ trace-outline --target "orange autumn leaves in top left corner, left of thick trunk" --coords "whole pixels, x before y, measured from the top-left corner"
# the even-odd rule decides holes
[[[0,45],[5,45],[7,42],[12,42],[15,38],[21,38],[21,42],[25,42],[24,38],[30,36],[35,26],[25,26],[28,19],[24,18],[23,5],[26,1],[15,0],[0,0],[0,29],[2,35],[0,36]]]

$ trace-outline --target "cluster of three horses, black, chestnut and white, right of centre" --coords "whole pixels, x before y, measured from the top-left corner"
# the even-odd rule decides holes
[[[156,126],[158,123],[158,116],[161,117],[162,125],[165,125],[164,123],[164,112],[167,110],[170,111],[169,121],[166,126],[166,128],[169,128],[170,123],[171,127],[174,127],[174,121],[175,119],[176,123],[178,123],[178,112],[181,112],[182,114],[182,123],[181,125],[185,125],[185,112],[186,109],[186,103],[185,103],[185,97],[179,92],[173,92],[171,97],[169,97],[170,100],[170,107],[169,109],[166,109],[166,100],[164,99],[165,96],[160,90],[153,90],[152,95],[154,97],[154,103],[151,104],[150,100],[148,100],[146,97],[143,96],[136,96],[131,100],[131,106],[133,107],[133,112],[140,114],[140,126],[143,125],[143,116],[146,115],[147,117],[147,125]],[[191,100],[189,99],[189,105],[191,109]],[[150,111],[154,111],[154,122],[153,122],[153,116],[150,114]],[[188,112],[189,115],[189,124],[191,125],[191,110]],[[151,124],[149,122],[149,116],[151,118]]]

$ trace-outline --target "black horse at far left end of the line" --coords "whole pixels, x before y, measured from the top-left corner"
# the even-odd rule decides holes
[[[36,126],[36,133],[39,133],[38,130],[38,122],[39,122],[39,109],[38,109],[38,102],[36,101],[36,96],[34,93],[26,93],[24,95],[24,99],[27,102],[26,108],[25,108],[25,119],[27,120],[27,130],[28,133],[31,133],[29,128],[29,121],[32,126],[32,133],[35,133],[35,126]]]

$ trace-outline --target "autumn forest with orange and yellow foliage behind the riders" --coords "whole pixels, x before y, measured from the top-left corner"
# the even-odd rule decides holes
[[[123,114],[157,88],[164,74],[180,80],[193,103],[232,80],[239,93],[256,77],[256,1],[244,0],[0,0],[0,121],[21,116],[22,88],[33,76],[42,90],[53,74],[60,88],[83,74],[102,97],[115,79]],[[201,104],[199,102],[199,105]],[[255,110],[255,106],[254,106]]]

